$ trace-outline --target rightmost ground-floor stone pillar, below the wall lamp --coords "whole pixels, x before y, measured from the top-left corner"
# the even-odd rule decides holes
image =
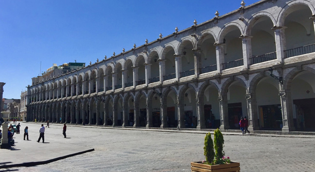
[[[293,124],[293,108],[290,90],[280,90],[279,95],[281,98],[283,132],[295,131]]]

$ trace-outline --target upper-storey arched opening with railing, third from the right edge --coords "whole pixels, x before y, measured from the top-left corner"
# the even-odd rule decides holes
[[[242,40],[239,39],[241,32],[236,26],[228,26],[227,34],[223,38],[224,63],[222,69],[229,69],[244,65]]]

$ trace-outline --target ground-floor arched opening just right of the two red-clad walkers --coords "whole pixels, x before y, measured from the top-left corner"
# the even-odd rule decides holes
[[[283,127],[283,120],[279,82],[271,77],[262,78],[256,86],[255,93],[260,129],[280,131]]]

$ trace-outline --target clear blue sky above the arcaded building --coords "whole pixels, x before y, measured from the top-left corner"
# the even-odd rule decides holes
[[[259,0],[245,0],[246,6]],[[88,64],[240,7],[241,0],[0,0],[3,98],[53,63]],[[41,64],[41,68],[40,68]]]

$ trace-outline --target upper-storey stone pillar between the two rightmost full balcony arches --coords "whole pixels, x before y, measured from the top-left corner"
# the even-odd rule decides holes
[[[275,32],[275,38],[276,38],[276,52],[277,52],[277,60],[279,63],[284,63],[284,50],[286,49],[286,41],[285,41],[285,33],[284,29],[286,27],[279,26],[274,27],[273,30]]]

